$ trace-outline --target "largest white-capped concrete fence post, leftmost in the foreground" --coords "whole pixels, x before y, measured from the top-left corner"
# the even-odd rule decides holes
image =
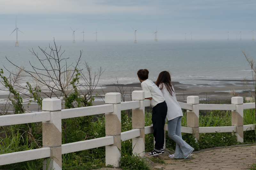
[[[50,121],[43,124],[43,147],[51,148],[51,157],[44,159],[43,170],[61,170],[61,100],[44,99],[42,103],[43,111],[50,111]],[[46,167],[48,166],[48,169]]]

